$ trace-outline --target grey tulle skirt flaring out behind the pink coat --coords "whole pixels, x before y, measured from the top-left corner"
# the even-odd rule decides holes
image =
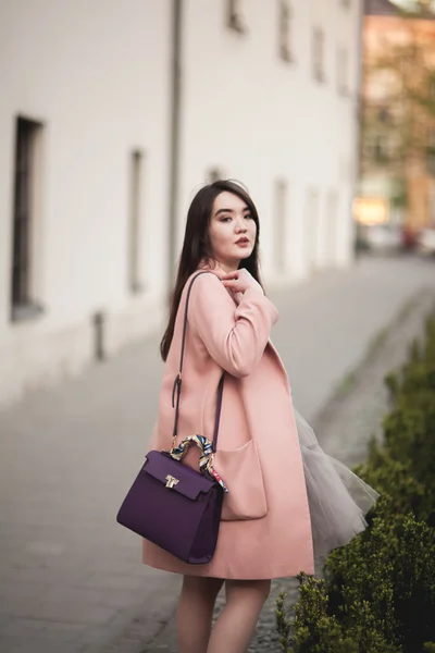
[[[380,495],[346,465],[325,454],[314,431],[297,410],[295,418],[318,566],[333,549],[348,544],[366,528],[364,516]]]

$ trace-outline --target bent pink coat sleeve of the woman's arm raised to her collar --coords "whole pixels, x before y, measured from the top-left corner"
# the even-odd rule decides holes
[[[248,377],[268,344],[278,311],[260,291],[248,288],[238,306],[215,274],[191,288],[188,321],[210,356],[234,377]]]

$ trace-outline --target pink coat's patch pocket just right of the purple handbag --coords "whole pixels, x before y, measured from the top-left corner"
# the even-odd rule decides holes
[[[265,517],[268,503],[256,442],[250,440],[231,451],[217,448],[213,458],[217,473],[228,488],[221,519],[237,521]]]

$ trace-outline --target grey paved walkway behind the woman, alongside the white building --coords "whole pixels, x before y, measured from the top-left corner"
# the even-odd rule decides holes
[[[403,304],[435,287],[434,270],[362,260],[271,293],[273,340],[309,420],[340,380],[355,382],[349,371]],[[160,374],[150,340],[0,414],[1,652],[171,650],[159,632],[179,579],[140,565],[137,537],[114,520],[156,419]]]

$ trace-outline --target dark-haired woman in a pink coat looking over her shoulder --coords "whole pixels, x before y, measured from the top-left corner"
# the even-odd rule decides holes
[[[313,574],[314,553],[325,555],[363,530],[363,514],[376,498],[322,452],[301,419],[298,434],[288,378],[270,341],[278,312],[261,285],[259,235],[256,207],[239,184],[217,181],[199,190],[188,211],[161,343],[165,368],[150,448],[169,449],[188,282],[198,271],[210,271],[195,280],[190,292],[178,436],[201,433],[212,439],[224,370],[217,455],[221,448],[241,451],[254,442],[266,506],[257,518],[221,521],[216,551],[207,565],[188,565],[144,540],[144,563],[184,575],[177,609],[179,653],[246,651],[271,579],[301,570]],[[189,451],[186,464],[197,466],[198,455]],[[249,473],[244,473],[248,482]],[[223,480],[231,493],[231,479]],[[349,493],[355,489],[359,505]],[[212,630],[223,583],[226,605]]]

